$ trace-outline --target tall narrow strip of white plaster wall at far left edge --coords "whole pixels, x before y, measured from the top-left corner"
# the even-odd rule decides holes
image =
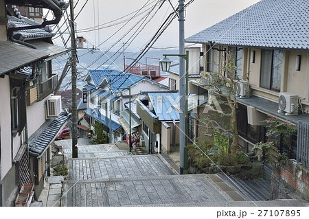
[[[1,180],[12,166],[10,80],[0,78]]]

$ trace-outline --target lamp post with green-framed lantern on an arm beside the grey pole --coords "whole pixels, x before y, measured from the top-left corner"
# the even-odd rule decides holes
[[[160,65],[162,71],[170,71],[171,60],[166,56],[179,56],[181,60],[185,60],[185,74],[179,72],[179,87],[180,87],[180,133],[179,133],[179,144],[180,144],[180,174],[187,174],[187,135],[188,135],[188,116],[187,116],[187,96],[188,96],[188,71],[189,71],[189,51],[185,54],[163,54],[164,58],[161,59]],[[185,76],[185,78],[184,78]],[[185,82],[184,82],[185,79]],[[183,89],[185,85],[185,89]],[[185,99],[183,99],[185,98]],[[185,102],[185,104],[183,104]]]

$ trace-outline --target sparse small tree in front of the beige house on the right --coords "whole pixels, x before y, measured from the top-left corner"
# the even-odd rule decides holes
[[[211,135],[229,132],[231,134],[231,146],[228,153],[236,154],[238,147],[238,129],[237,129],[237,108],[236,87],[242,80],[238,76],[235,66],[235,54],[231,51],[223,51],[222,65],[218,65],[217,72],[211,72],[206,75],[209,78],[209,111],[216,111],[220,117],[224,117],[228,122],[217,122],[216,118],[205,117],[202,123],[207,130],[212,130]],[[216,63],[214,63],[215,65]],[[246,78],[249,73],[246,74]],[[216,132],[214,131],[216,130]],[[220,131],[218,131],[220,130]]]

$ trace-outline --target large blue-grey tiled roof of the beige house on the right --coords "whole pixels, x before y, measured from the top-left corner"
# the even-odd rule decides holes
[[[308,10],[308,0],[262,0],[186,42],[309,49]]]

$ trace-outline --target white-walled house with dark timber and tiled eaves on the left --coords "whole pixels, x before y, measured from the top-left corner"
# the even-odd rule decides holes
[[[52,23],[58,23],[62,3],[43,1],[39,7],[51,9]],[[0,1],[0,206],[14,205],[24,184],[35,185],[35,197],[41,194],[50,143],[69,119],[60,98],[51,97],[58,78],[52,59],[67,49],[52,44],[48,23],[21,16],[13,5],[25,1]],[[36,7],[36,1],[27,6]]]

